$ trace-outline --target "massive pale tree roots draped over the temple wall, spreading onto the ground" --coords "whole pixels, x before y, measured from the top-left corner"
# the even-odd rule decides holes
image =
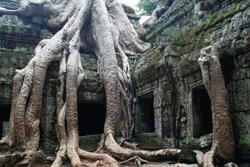
[[[152,152],[125,149],[114,139],[115,130],[126,138],[133,127],[133,85],[127,55],[149,47],[138,38],[116,0],[21,0],[17,10],[0,8],[0,15],[3,14],[47,16],[47,26],[58,29],[53,37],[39,42],[34,57],[24,69],[17,70],[13,79],[10,131],[1,142],[24,151],[24,161],[29,162],[39,149],[44,83],[48,66],[54,61],[60,62],[60,69],[56,98],[59,149],[53,167],[62,166],[65,157],[70,159],[72,166],[88,166],[93,162],[119,166],[114,158],[159,160],[178,157],[178,149]],[[84,78],[80,49],[92,51],[97,56],[98,73],[106,93],[101,153],[79,148],[77,90]]]

